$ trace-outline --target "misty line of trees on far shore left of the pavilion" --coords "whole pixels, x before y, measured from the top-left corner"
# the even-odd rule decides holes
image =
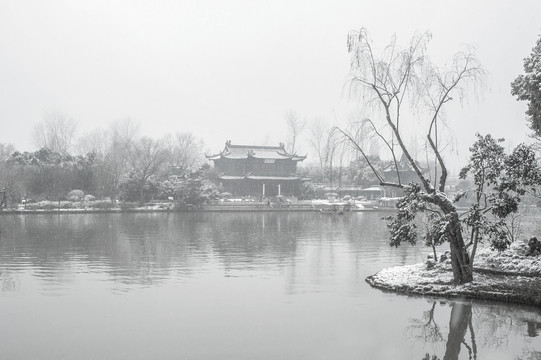
[[[130,119],[95,130],[75,142],[75,122],[59,112],[44,115],[34,131],[39,150],[0,144],[0,183],[8,204],[60,201],[72,190],[93,198],[146,202],[174,199],[198,205],[215,196],[202,140],[191,133],[162,139],[138,135]],[[72,153],[79,147],[79,155]]]

